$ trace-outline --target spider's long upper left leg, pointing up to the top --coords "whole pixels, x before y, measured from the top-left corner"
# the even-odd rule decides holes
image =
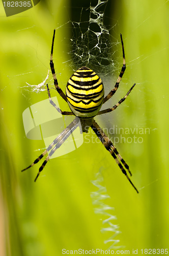
[[[66,95],[64,94],[64,92],[62,91],[62,89],[58,86],[58,80],[57,80],[57,76],[55,74],[55,70],[54,70],[54,64],[53,64],[53,45],[54,45],[54,36],[55,36],[55,29],[53,32],[53,39],[52,39],[52,45],[51,45],[51,54],[50,54],[50,69],[51,69],[51,73],[53,75],[53,80],[54,80],[54,86],[55,89],[57,90],[57,92],[61,95],[61,97],[67,102],[67,98]]]

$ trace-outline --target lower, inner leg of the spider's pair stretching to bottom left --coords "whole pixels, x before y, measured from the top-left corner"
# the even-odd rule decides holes
[[[52,148],[52,150],[50,151],[50,153],[48,154],[48,156],[46,157],[45,161],[42,163],[42,165],[39,168],[39,172],[35,178],[34,181],[37,180],[38,176],[40,175],[40,173],[42,172],[43,168],[45,167],[45,165],[47,164],[48,160],[50,159],[50,157],[54,154],[54,152],[65,142],[65,140],[72,134],[72,132],[77,128],[78,126],[78,118],[75,118],[73,120],[73,122],[71,122],[66,129],[64,130],[64,133],[62,133],[62,136],[60,138],[60,141],[55,144],[55,146]]]

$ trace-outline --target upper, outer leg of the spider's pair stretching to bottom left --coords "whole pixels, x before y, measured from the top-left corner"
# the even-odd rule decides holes
[[[66,134],[69,133],[70,136],[70,130],[72,129],[73,126],[75,126],[75,128],[77,127],[77,123],[78,123],[78,118],[75,118],[66,128],[65,130],[57,137],[53,140],[53,142],[46,148],[46,150],[37,158],[35,159],[35,161],[29,165],[28,167],[24,168],[23,170],[21,170],[21,172],[23,172],[26,169],[29,169],[30,167],[32,167],[34,164],[38,163],[51,149],[52,147],[57,144],[59,141],[61,141]],[[74,131],[74,129],[72,129],[72,132]],[[68,137],[69,137],[68,136]]]

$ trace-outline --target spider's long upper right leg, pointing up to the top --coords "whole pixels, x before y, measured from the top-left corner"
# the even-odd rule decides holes
[[[104,98],[104,100],[103,100],[103,104],[104,104],[108,99],[110,99],[110,98],[112,97],[112,95],[114,95],[114,94],[116,93],[116,91],[117,91],[118,88],[119,88],[119,83],[120,83],[120,81],[121,81],[121,79],[122,79],[122,76],[123,76],[123,74],[124,74],[124,72],[125,72],[125,70],[126,70],[126,61],[125,61],[125,53],[124,53],[124,44],[123,44],[122,34],[120,34],[120,37],[121,37],[122,51],[123,51],[123,67],[122,67],[122,69],[121,69],[121,72],[120,72],[120,74],[119,74],[119,77],[118,77],[118,79],[117,79],[117,82],[116,82],[116,84],[115,84],[114,89],[112,89],[112,90],[109,92],[109,94],[107,94],[107,96],[105,96],[105,98]]]

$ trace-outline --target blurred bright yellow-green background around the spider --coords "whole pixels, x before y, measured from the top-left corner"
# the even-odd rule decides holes
[[[81,6],[83,6],[81,1]],[[43,141],[26,138],[22,113],[47,98],[47,92],[25,91],[25,82],[39,84],[47,75],[54,28],[54,63],[60,87],[65,90],[73,70],[68,51],[75,1],[41,0],[23,13],[5,16],[1,3],[1,255],[62,255],[62,249],[107,249],[104,240],[111,232],[95,212],[92,180],[98,174],[110,198],[102,202],[117,220],[120,250],[168,248],[168,1],[129,0],[111,2],[108,9],[111,33],[120,41],[123,34],[127,69],[111,106],[136,82],[128,99],[114,113],[96,118],[102,127],[150,128],[143,143],[119,143],[120,154],[130,165],[137,195],[118,165],[101,143],[83,143],[76,151],[52,159],[34,183],[38,166],[21,173],[41,154]],[[76,8],[80,12],[81,8]],[[64,40],[65,39],[65,40]],[[66,43],[65,43],[66,41]],[[114,86],[122,52],[116,49],[117,70],[108,89]],[[67,61],[69,62],[67,63]],[[65,63],[64,63],[65,62]],[[92,68],[92,67],[91,67]],[[50,76],[51,78],[51,76]],[[104,81],[104,79],[103,79]],[[52,87],[52,81],[50,81]],[[55,96],[56,92],[51,92]],[[61,109],[68,106],[58,97]],[[102,209],[101,203],[97,206]]]

